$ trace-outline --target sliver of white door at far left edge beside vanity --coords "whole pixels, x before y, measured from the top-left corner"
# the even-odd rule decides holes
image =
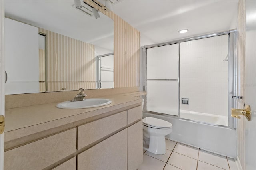
[[[4,2],[0,0],[0,115],[4,115]],[[4,169],[4,133],[0,134],[0,170]]]

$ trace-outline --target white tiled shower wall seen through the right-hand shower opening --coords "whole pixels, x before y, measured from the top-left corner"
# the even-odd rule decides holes
[[[180,43],[180,109],[228,115],[228,35]]]

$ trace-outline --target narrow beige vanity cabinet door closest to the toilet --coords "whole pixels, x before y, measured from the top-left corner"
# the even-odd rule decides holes
[[[127,128],[127,168],[136,170],[143,161],[142,120]]]

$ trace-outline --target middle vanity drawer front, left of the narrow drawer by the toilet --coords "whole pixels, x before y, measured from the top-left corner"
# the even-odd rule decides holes
[[[78,127],[78,150],[126,126],[127,111]]]

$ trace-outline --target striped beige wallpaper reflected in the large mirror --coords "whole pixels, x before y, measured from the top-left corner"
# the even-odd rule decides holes
[[[95,47],[49,30],[46,34],[47,91],[95,89]]]

